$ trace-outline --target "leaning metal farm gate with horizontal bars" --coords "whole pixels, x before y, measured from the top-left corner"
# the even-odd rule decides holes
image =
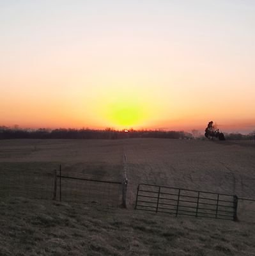
[[[180,214],[237,220],[237,202],[236,195],[139,184],[135,209],[164,212],[175,216]]]

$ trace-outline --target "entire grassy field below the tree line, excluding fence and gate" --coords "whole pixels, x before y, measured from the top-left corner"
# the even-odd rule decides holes
[[[24,179],[22,173],[52,173],[60,163],[66,173],[121,181],[123,154],[128,210],[13,198],[13,180],[3,184],[9,173]],[[1,198],[0,255],[255,255],[252,202],[239,202],[238,222],[133,210],[142,182],[255,198],[252,141],[6,140],[0,166],[1,187],[11,191]]]

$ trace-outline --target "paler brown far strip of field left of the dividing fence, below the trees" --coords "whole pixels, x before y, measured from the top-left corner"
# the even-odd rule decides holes
[[[120,140],[2,140],[0,161],[121,163]]]

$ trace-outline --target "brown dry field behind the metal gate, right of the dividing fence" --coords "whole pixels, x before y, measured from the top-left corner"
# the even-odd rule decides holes
[[[245,141],[127,140],[128,198],[137,184],[157,184],[255,198],[255,145]],[[240,202],[240,220],[253,220],[255,203]]]

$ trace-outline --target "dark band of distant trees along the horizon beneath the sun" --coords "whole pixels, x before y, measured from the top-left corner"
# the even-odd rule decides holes
[[[114,129],[11,129],[0,127],[0,140],[7,139],[98,139],[116,140],[125,138],[169,138],[187,139],[192,134],[183,131],[158,131],[158,130],[134,130],[128,132],[116,131]]]

